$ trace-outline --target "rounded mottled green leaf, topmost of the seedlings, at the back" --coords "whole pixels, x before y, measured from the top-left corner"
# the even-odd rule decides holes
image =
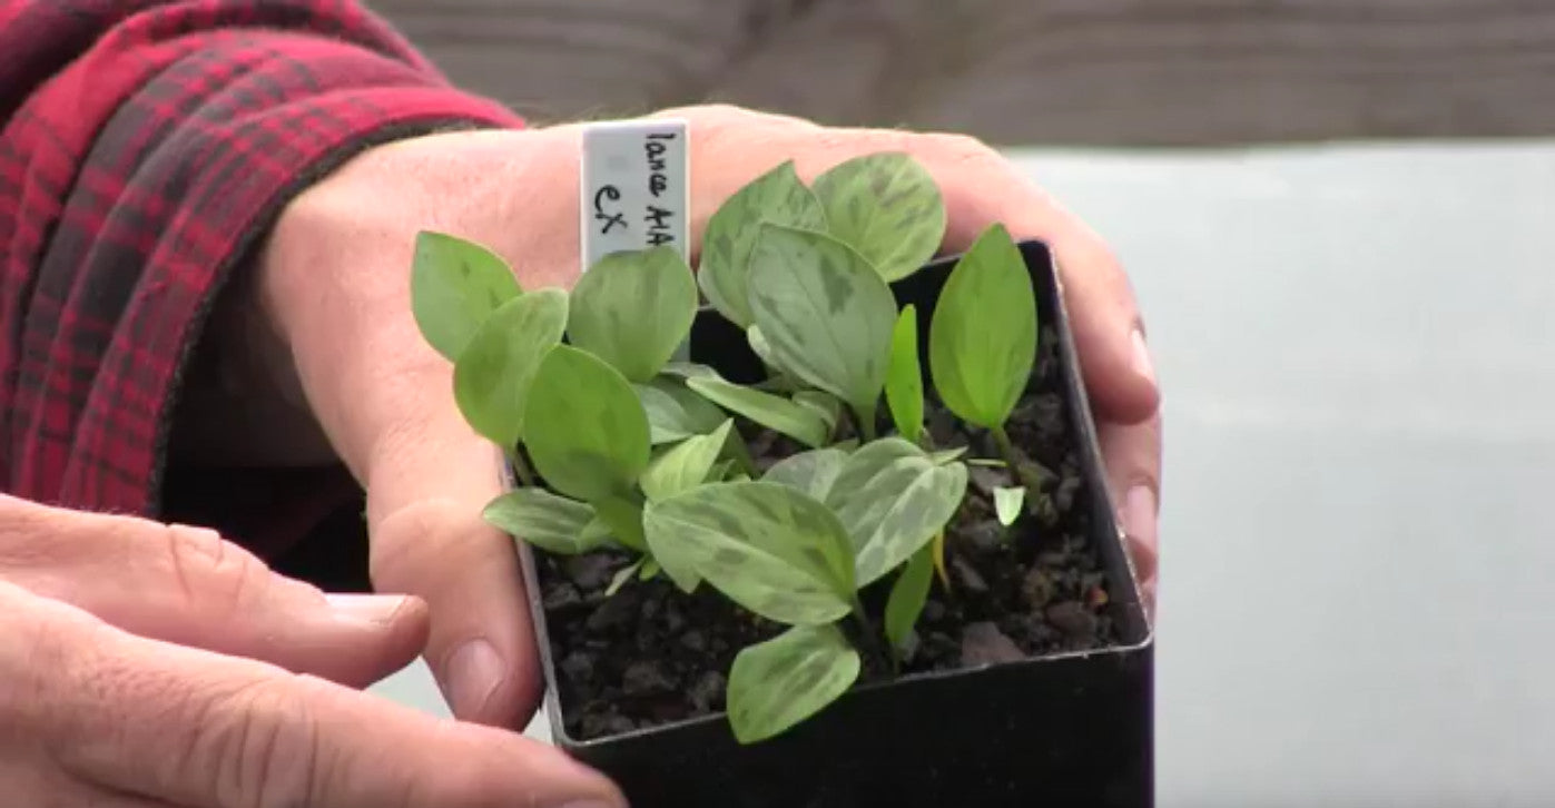
[[[935,179],[902,152],[855,157],[815,180],[829,232],[894,281],[922,267],[945,238]]]

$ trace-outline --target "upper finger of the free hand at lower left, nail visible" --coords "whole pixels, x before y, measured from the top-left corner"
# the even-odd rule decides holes
[[[404,667],[426,604],[325,595],[216,531],[0,497],[0,576],[124,631],[353,687]]]

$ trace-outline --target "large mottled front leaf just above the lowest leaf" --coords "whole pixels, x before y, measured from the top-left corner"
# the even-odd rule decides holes
[[[847,533],[821,502],[768,482],[712,483],[647,508],[648,547],[675,575],[687,561],[709,584],[779,623],[847,614],[854,559]]]

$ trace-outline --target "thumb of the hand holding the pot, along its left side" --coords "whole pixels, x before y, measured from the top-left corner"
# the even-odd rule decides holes
[[[502,491],[499,454],[451,396],[406,418],[369,466],[373,586],[428,603],[426,660],[457,718],[521,727],[540,699],[535,639],[513,541],[480,517]]]

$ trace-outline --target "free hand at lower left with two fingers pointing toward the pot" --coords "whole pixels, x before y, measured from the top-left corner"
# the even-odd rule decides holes
[[[0,496],[0,615],[6,805],[624,805],[554,747],[351,688],[415,657],[421,601],[325,595],[205,530]]]

